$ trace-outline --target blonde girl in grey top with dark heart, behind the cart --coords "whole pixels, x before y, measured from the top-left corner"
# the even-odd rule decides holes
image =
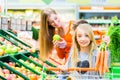
[[[70,51],[70,55],[66,68],[94,68],[97,57],[97,46],[95,43],[94,34],[92,31],[92,26],[87,23],[79,24],[73,34],[73,48]],[[64,67],[64,69],[65,69]],[[63,67],[62,67],[63,68]],[[63,69],[63,70],[64,70]],[[82,75],[93,75],[98,74],[97,72],[91,71],[74,71],[75,76]]]

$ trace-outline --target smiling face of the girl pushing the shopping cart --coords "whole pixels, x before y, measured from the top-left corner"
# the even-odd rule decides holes
[[[77,42],[81,48],[88,47],[88,45],[90,44],[90,38],[85,30],[78,28],[76,37]]]

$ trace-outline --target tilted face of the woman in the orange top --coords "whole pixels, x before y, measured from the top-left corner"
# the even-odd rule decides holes
[[[48,18],[49,24],[55,28],[61,27],[61,22],[56,14],[51,14]]]

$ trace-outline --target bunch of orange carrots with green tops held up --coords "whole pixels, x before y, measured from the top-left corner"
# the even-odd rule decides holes
[[[102,42],[99,48],[99,53],[96,58],[96,70],[102,76],[108,72],[108,51],[106,49],[106,43]]]

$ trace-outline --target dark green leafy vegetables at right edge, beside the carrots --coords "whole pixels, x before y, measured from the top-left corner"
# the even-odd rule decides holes
[[[120,26],[116,26],[110,31],[110,43],[108,48],[111,52],[111,61],[120,62]]]

